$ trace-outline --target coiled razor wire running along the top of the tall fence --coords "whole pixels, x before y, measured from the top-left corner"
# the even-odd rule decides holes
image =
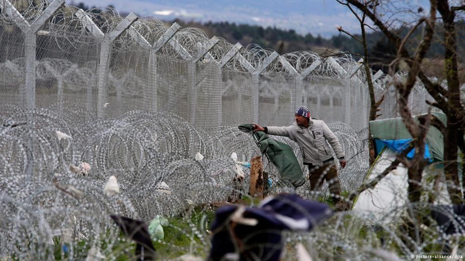
[[[25,20],[23,18],[21,18],[22,17],[21,14],[18,11],[15,11],[14,1],[13,1],[13,4],[11,4],[10,1],[8,1],[8,0],[3,0],[3,1],[4,1],[4,5],[8,7],[8,8],[6,8],[6,12],[4,12],[4,13],[6,13],[7,16],[8,15],[12,16],[12,18],[15,19],[15,21],[17,21],[17,23],[24,24]],[[47,1],[42,1],[41,3],[46,5]],[[54,7],[54,5],[50,4],[51,7]],[[54,8],[56,8],[56,6]],[[38,11],[34,12],[36,16],[37,16],[37,13],[40,12],[41,8],[37,8],[37,10]],[[95,10],[98,10],[98,12],[96,12]],[[31,12],[31,11],[29,9],[25,9],[24,12],[28,13],[28,12]],[[110,18],[108,18],[107,16],[103,16],[102,15],[103,13],[109,14]],[[157,28],[158,31],[162,31],[163,29],[165,29],[163,23],[160,22],[159,20],[157,20],[156,18],[155,19],[153,19],[153,18],[141,19],[137,23],[139,26],[136,26],[136,24],[135,24],[135,26],[131,26],[132,23],[134,23],[136,20],[139,19],[139,17],[137,17],[137,15],[135,15],[134,13],[131,13],[127,18],[125,18],[127,20],[127,22],[124,22],[123,24],[119,25],[119,28],[116,29],[116,27],[118,26],[118,23],[120,23],[120,22],[122,23],[124,21],[124,19],[119,17],[118,12],[115,9],[111,8],[111,7],[98,7],[98,8],[88,10],[86,12],[83,11],[83,10],[78,9],[77,11],[75,11],[74,15],[77,18],[79,18],[79,20],[81,20],[83,25],[85,25],[87,30],[94,37],[97,37],[97,38],[106,37],[106,39],[107,39],[106,41],[108,41],[109,39],[114,40],[118,35],[120,35],[122,33],[122,31],[124,31],[126,29],[129,29],[128,33],[132,37],[137,38],[137,41],[141,45],[144,45],[145,47],[148,47],[150,45],[150,43],[153,42],[153,41],[150,41],[150,39],[148,39],[148,38],[150,38],[151,35],[157,35],[157,34],[153,34],[153,33],[148,33],[147,34],[147,32],[146,32],[146,31],[155,31],[155,30],[153,30],[153,26],[151,27],[150,25],[148,25],[148,24],[151,23],[151,21],[155,21],[155,23],[151,23],[151,24],[156,24],[156,26],[158,27]],[[93,22],[93,21],[96,21],[96,20],[99,21],[99,25],[96,25]],[[103,20],[103,22],[101,22],[102,20]],[[212,45],[214,45],[214,43],[212,44],[210,42],[210,43],[207,44],[208,38],[206,37],[206,35],[205,35],[205,33],[203,31],[201,31],[200,29],[197,29],[197,28],[185,28],[185,29],[181,29],[181,30],[180,29],[181,28],[175,23],[171,28],[171,35],[170,35],[169,32],[166,32],[167,34],[163,35],[163,37],[161,37],[161,35],[158,34],[157,36],[159,37],[159,40],[157,40],[156,43],[152,44],[153,48],[155,48],[155,52],[157,52],[158,49],[160,49],[167,42],[169,42],[169,45],[171,45],[171,47],[173,47],[174,51],[176,51],[176,53],[172,53],[172,55],[174,55],[174,56],[180,56],[185,60],[195,59],[194,61],[198,61],[202,56],[207,55],[207,56],[209,56],[208,58],[214,58],[217,62],[220,63],[220,65],[224,66],[225,61],[232,58],[230,56],[226,56],[226,54],[229,53],[230,51],[236,52],[237,49],[241,49],[241,47],[239,47],[238,45],[234,45],[235,47],[233,49],[231,49],[231,46],[225,46],[225,47],[230,48],[230,49],[223,51],[224,56],[216,58],[216,57],[211,56],[211,54],[208,52],[209,49],[212,48]],[[139,31],[141,31],[141,32],[139,32]],[[143,32],[143,31],[145,31],[145,32]],[[215,37],[210,39],[210,40],[211,41],[216,41]],[[270,61],[267,61],[266,59],[269,58],[269,56],[271,54],[273,54],[274,51],[273,50],[264,50],[264,49],[262,49],[260,46],[258,46],[256,44],[252,44],[252,45],[247,46],[246,50],[247,50],[247,52],[245,54],[238,54],[239,55],[239,60],[241,61],[241,64],[244,64],[246,69],[249,72],[253,72],[254,74],[257,74],[258,72],[264,73],[267,66],[270,65],[270,63],[271,63]],[[231,53],[230,53],[230,55],[231,55]],[[275,55],[276,54],[273,54],[273,56],[275,56]],[[225,56],[228,57],[228,58],[226,58]],[[300,57],[295,59],[296,56],[300,56]],[[301,63],[300,60],[302,60],[302,58],[304,58],[304,57],[311,57],[311,56],[317,56],[318,57],[318,55],[312,54],[310,52],[301,52],[301,53],[295,52],[295,53],[292,53],[292,54],[284,54],[283,56],[279,56],[279,59],[278,59],[279,62],[280,62],[279,66],[285,69],[284,71],[282,71],[282,70],[281,71],[285,72],[285,73],[288,73],[288,74],[292,74],[292,75],[295,75],[296,72],[297,73],[304,73],[301,76],[305,77],[306,75],[308,75],[308,73],[310,73],[309,71],[313,71],[314,68],[313,68],[313,70],[309,69],[307,71],[303,71],[303,68],[308,68],[308,66],[302,66],[302,63]],[[273,57],[273,58],[277,58],[277,57]],[[288,61],[288,59],[289,59],[289,61]],[[294,59],[299,60],[299,62],[294,63],[292,61]],[[338,57],[336,59],[340,60],[340,59],[347,59],[347,58]],[[274,60],[274,59],[272,59],[272,60]],[[313,59],[313,60],[317,61],[319,59]],[[263,64],[263,63],[266,63],[266,64]],[[332,64],[332,61],[330,61],[330,63]],[[270,71],[276,71],[277,70],[276,66],[277,65],[272,66],[271,68],[269,68],[269,70]],[[291,68],[291,66],[294,67],[294,68]],[[316,67],[316,65],[314,65],[313,67]],[[336,70],[338,70],[338,69],[336,69]],[[357,71],[357,70],[358,69],[356,69],[355,71]],[[352,74],[353,73],[355,73],[355,72],[352,72]],[[333,75],[333,76],[335,76],[335,75]],[[346,75],[345,74],[341,75],[341,77],[344,77],[344,76],[346,76]]]

